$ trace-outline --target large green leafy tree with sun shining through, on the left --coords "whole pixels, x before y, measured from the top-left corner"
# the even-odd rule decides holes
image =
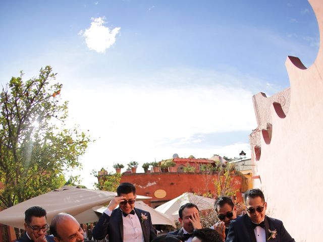
[[[0,206],[11,207],[65,184],[63,171],[80,167],[90,141],[67,128],[68,102],[51,67],[27,81],[12,77],[0,93]]]

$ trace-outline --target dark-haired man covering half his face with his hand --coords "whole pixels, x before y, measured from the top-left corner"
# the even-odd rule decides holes
[[[186,203],[180,207],[178,215],[183,227],[168,234],[183,236],[186,242],[191,242],[194,237],[193,230],[202,228],[199,210],[195,204]]]

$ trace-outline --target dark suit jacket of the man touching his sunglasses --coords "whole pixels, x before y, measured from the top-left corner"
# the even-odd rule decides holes
[[[140,219],[140,225],[145,242],[151,241],[156,237],[154,228],[152,227],[150,213],[141,209],[134,208],[135,213]],[[141,213],[146,214],[147,219],[141,221]],[[123,218],[120,209],[114,209],[111,216],[103,213],[93,228],[92,234],[94,239],[103,239],[109,234],[111,242],[123,242]]]

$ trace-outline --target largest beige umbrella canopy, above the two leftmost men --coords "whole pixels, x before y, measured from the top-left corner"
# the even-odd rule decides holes
[[[79,221],[80,223],[92,222],[95,219],[95,214],[89,213],[87,210],[109,203],[116,195],[115,192],[64,186],[1,211],[0,223],[23,229],[24,213],[32,206],[40,206],[46,210],[48,224],[50,224],[53,216],[62,212],[69,213],[76,218],[79,216],[82,219],[82,221]],[[139,200],[148,198],[150,197],[137,195]],[[86,217],[89,215],[90,217]],[[97,219],[93,221],[97,221]]]

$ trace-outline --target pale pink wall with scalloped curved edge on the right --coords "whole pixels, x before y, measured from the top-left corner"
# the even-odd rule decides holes
[[[319,231],[323,225],[323,2],[309,2],[320,30],[317,58],[308,69],[298,58],[287,58],[288,112],[271,98],[256,95],[254,102],[262,106],[261,111],[255,110],[260,144],[250,139],[253,151],[255,146],[261,147],[261,153],[252,154],[255,175],[261,179],[254,180],[254,187],[265,193],[267,215],[281,219],[296,241],[322,241]],[[267,136],[266,123],[272,125],[272,137]]]

